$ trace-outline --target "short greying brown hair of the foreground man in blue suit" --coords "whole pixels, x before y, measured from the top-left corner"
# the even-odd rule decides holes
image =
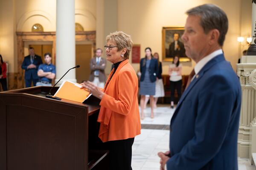
[[[228,20],[226,13],[221,8],[213,4],[204,4],[189,9],[186,11],[186,14],[195,15],[201,18],[200,24],[203,27],[205,34],[212,29],[217,29],[220,32],[218,44],[223,46],[228,29]]]

